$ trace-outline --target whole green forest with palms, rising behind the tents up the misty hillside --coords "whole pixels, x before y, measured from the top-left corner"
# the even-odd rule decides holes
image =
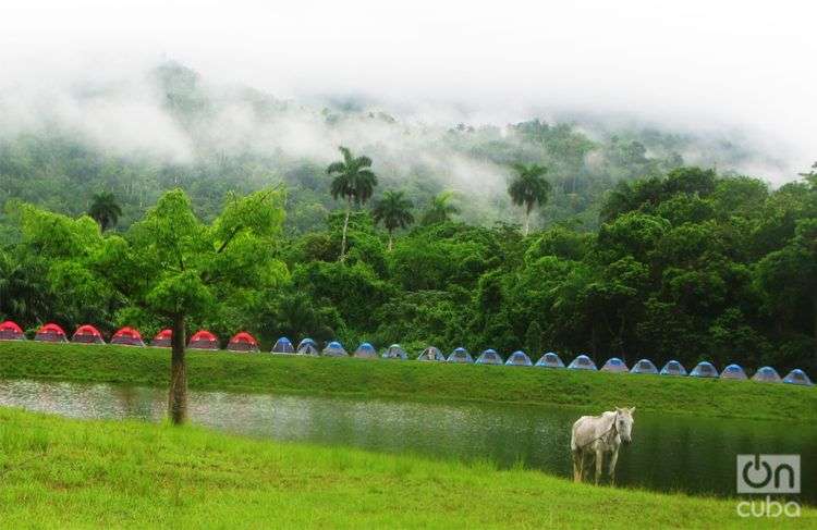
[[[59,124],[2,137],[0,320],[150,335],[181,316],[267,347],[312,336],[817,371],[817,167],[772,188],[712,169],[746,157],[737,145],[540,120],[423,130],[353,102],[309,120],[412,149],[359,136],[326,158],[248,136],[218,149],[209,120],[227,96],[178,64],[154,76],[191,160],[122,156]],[[248,135],[305,112],[230,97],[253,109]],[[692,147],[704,155],[688,160]],[[446,173],[458,167],[465,177]],[[486,168],[502,178],[480,181]]]

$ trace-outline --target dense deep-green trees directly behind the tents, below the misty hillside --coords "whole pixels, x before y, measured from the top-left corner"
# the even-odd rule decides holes
[[[106,331],[136,323],[148,334],[163,325],[134,321],[132,300],[82,267],[118,235],[101,235],[88,218],[19,204],[8,211],[20,243],[0,260],[9,271],[0,284],[3,317],[29,328],[46,320]],[[271,283],[254,276],[245,294],[214,292],[240,299],[190,323],[224,340],[247,328],[265,341],[310,335],[352,346],[367,340],[504,354],[522,347],[534,356],[587,352],[597,362],[612,355],[627,362],[708,359],[814,373],[813,175],[772,192],[751,177],[678,169],[621,184],[602,212],[597,233],[553,225],[528,237],[515,225],[430,223],[402,233],[388,251],[388,233],[358,209],[344,262],[345,215],[332,213],[324,230],[266,249],[242,247],[236,263],[272,250],[280,273]]]

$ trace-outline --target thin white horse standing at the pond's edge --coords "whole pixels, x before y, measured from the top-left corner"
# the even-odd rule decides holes
[[[605,453],[610,454],[610,482],[615,483],[615,463],[621,442],[630,443],[633,431],[633,408],[615,408],[601,416],[582,416],[573,423],[570,448],[573,452],[573,481],[581,482],[585,461],[596,459],[596,484],[601,477]],[[588,458],[589,457],[589,458]]]

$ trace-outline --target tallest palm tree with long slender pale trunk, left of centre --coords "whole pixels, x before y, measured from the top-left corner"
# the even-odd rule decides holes
[[[353,157],[352,151],[341,146],[343,161],[333,162],[326,169],[327,174],[336,175],[332,180],[331,193],[337,200],[346,199],[346,217],[343,220],[343,239],[341,242],[340,260],[346,259],[346,231],[349,230],[349,215],[352,213],[352,202],[355,206],[365,205],[371,198],[377,176],[369,169],[371,159],[368,157]]]

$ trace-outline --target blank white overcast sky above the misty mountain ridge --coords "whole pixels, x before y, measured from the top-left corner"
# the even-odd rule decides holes
[[[805,169],[809,3],[2,0],[0,86],[169,58],[282,97],[362,94],[429,115],[453,103],[500,123],[568,110],[735,127]]]

